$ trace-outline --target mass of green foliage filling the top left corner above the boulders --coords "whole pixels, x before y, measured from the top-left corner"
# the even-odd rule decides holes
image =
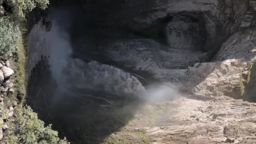
[[[7,16],[0,17],[0,55],[12,53],[15,50],[16,42],[21,35],[19,24],[25,20],[26,14],[36,6],[45,9],[49,4],[49,0],[3,1],[11,11],[7,12]]]

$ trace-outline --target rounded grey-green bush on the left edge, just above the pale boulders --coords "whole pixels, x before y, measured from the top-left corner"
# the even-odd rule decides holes
[[[0,54],[8,54],[15,50],[21,32],[19,26],[0,17]]]

